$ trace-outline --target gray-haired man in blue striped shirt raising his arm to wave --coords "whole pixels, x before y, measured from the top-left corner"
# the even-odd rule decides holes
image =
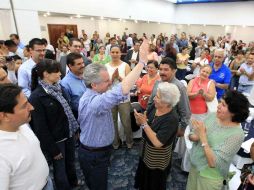
[[[127,99],[143,66],[143,63],[138,63],[111,90],[108,90],[111,80],[104,65],[90,64],[84,71],[87,89],[79,103],[81,145],[78,152],[80,166],[90,190],[107,189],[110,151],[115,134],[111,109]]]

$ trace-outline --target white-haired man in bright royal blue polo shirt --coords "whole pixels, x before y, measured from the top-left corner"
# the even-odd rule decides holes
[[[223,64],[224,58],[224,50],[217,49],[214,52],[214,62],[211,63],[212,73],[209,78],[215,81],[218,100],[221,99],[225,90],[228,89],[231,79],[230,69]]]

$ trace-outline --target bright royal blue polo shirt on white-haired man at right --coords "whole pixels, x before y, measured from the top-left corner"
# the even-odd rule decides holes
[[[231,79],[231,72],[230,69],[222,64],[221,67],[216,71],[214,69],[214,63],[211,63],[211,67],[212,67],[212,73],[210,75],[210,79],[214,80],[216,83],[220,83],[220,84],[229,84],[230,83],[230,79]],[[216,92],[217,92],[217,99],[221,99],[221,97],[224,95],[225,90],[216,87]]]

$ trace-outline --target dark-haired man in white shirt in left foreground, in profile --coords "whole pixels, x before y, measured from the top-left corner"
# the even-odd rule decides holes
[[[52,190],[47,161],[30,129],[33,106],[22,89],[0,84],[0,189]]]

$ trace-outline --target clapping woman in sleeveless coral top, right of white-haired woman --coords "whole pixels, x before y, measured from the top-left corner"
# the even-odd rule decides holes
[[[187,93],[190,99],[192,116],[198,115],[199,118],[207,113],[206,101],[212,101],[216,90],[214,82],[209,82],[208,78],[212,72],[209,65],[201,67],[199,76],[192,79],[187,86]],[[200,118],[200,119],[201,119]]]

